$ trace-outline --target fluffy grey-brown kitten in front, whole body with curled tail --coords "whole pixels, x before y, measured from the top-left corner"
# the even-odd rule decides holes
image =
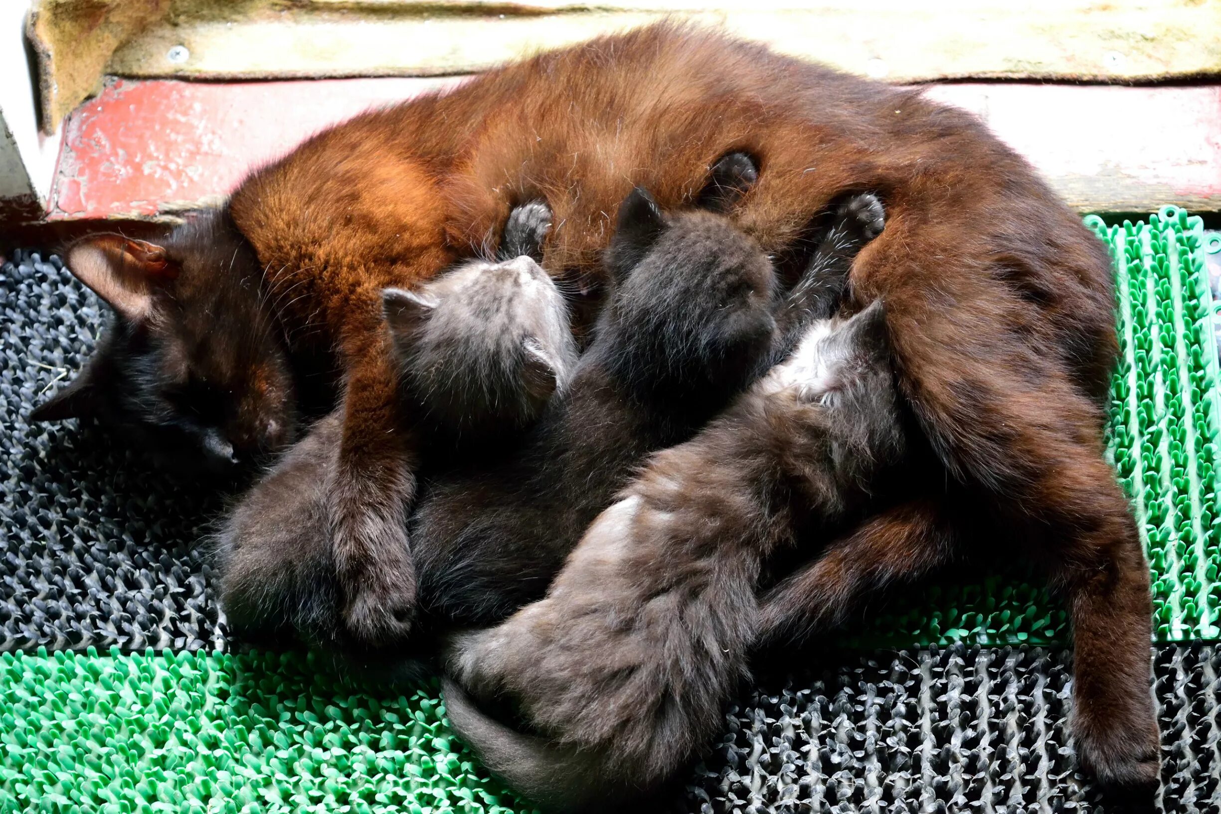
[[[545,599],[454,638],[454,730],[547,810],[648,794],[718,731],[746,676],[763,560],[860,515],[904,453],[880,303],[813,325],[703,432],[653,455]],[[536,735],[462,687],[509,702]]]

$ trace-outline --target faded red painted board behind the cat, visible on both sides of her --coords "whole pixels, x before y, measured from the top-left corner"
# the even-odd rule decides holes
[[[459,79],[118,81],[65,128],[50,220],[216,200],[261,162],[369,107]],[[1078,209],[1221,210],[1221,85],[947,84]]]

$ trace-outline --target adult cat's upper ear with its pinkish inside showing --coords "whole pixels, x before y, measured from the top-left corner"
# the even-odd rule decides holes
[[[77,279],[133,322],[153,312],[153,294],[182,271],[164,248],[122,234],[77,240],[63,259]]]

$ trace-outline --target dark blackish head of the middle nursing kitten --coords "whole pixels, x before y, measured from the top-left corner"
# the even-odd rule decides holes
[[[775,271],[723,214],[664,214],[643,189],[619,207],[606,254],[613,288],[600,336],[642,392],[730,394],[755,378],[775,333]]]

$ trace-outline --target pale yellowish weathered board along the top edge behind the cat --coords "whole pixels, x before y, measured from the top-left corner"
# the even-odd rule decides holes
[[[711,9],[696,0],[248,0],[223,9],[176,0],[171,16],[121,48],[109,70],[230,78],[468,73],[673,13],[896,82],[1221,74],[1221,2],[1200,0],[720,0]]]

